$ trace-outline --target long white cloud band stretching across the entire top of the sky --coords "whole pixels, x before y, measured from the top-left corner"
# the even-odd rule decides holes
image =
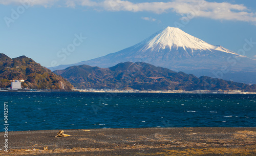
[[[130,12],[153,12],[177,13],[183,17],[205,17],[216,20],[237,20],[245,21],[256,25],[256,13],[250,11],[242,4],[207,2],[205,0],[173,0],[169,2],[143,2],[133,3],[131,1],[122,0],[0,0],[0,4],[20,4],[22,2],[30,3],[31,6],[41,5],[45,7],[63,6],[75,8],[83,6],[93,8],[98,11],[130,11]]]

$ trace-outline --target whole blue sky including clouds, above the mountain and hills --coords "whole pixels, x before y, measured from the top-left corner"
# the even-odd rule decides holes
[[[43,66],[114,53],[167,26],[234,52],[256,42],[254,0],[0,0],[0,15],[0,53]],[[245,55],[256,59],[256,44]]]

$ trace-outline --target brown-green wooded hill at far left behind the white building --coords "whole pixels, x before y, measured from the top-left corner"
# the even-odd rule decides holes
[[[31,58],[20,56],[11,59],[0,54],[0,87],[10,87],[10,80],[24,79],[23,87],[32,89],[71,90],[73,85]]]

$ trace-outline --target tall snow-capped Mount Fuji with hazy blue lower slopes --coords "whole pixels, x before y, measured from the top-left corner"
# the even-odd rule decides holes
[[[87,64],[108,68],[120,62],[146,62],[170,70],[256,84],[256,60],[213,46],[179,28],[167,27],[132,47],[75,64],[59,65],[53,70]]]

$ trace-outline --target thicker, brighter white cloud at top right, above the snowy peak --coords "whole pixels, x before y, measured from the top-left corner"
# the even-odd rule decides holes
[[[91,2],[90,0],[81,0]],[[170,2],[132,3],[121,0],[104,0],[94,7],[107,11],[154,12],[157,14],[175,12],[182,16],[206,17],[217,20],[246,21],[256,25],[256,13],[244,5],[207,2],[205,0],[173,0]]]

